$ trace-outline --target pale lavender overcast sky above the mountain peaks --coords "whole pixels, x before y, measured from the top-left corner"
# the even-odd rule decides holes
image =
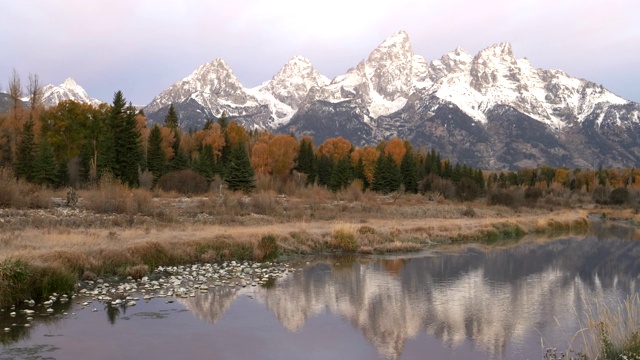
[[[518,58],[640,102],[637,0],[0,0],[0,89],[15,69],[148,104],[224,59],[245,87],[302,55],[329,78],[406,30],[428,61],[511,42]]]

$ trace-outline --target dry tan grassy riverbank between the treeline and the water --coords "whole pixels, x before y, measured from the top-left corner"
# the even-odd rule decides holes
[[[109,194],[81,195],[76,207],[54,199],[48,208],[0,210],[0,306],[70,292],[78,279],[140,278],[157,266],[408,252],[531,233],[584,233],[593,212],[459,204],[418,195],[307,202],[275,194],[151,198],[135,191],[123,197],[121,211],[117,206],[102,211],[96,204]],[[607,211],[608,217],[634,216]]]

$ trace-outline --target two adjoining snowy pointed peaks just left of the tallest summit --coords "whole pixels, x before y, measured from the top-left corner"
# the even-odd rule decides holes
[[[145,112],[151,121],[162,122],[173,104],[185,128],[200,128],[225,113],[245,126],[273,129],[291,118],[311,87],[328,82],[309,60],[296,56],[273,79],[247,89],[224,60],[216,59],[160,93]]]

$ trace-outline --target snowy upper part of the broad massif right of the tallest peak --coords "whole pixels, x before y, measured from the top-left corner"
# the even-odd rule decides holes
[[[516,59],[509,43],[488,47],[473,59],[456,49],[433,61],[431,68],[435,74],[431,92],[483,123],[493,106],[509,105],[558,130],[583,121],[597,104],[627,103],[586,80]]]

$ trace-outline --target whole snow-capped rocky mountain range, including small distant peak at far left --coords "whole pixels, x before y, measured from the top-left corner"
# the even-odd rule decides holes
[[[49,99],[59,93],[50,89]],[[254,88],[216,59],[158,94],[144,108],[149,122],[162,123],[171,104],[184,129],[225,113],[247,128],[311,135],[316,144],[342,136],[362,146],[398,136],[484,169],[640,165],[639,104],[535,68],[509,43],[475,55],[457,48],[428,62],[399,31],[332,80],[295,56]]]

